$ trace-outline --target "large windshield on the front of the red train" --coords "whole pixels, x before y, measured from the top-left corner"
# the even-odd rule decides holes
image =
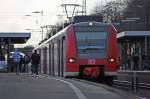
[[[100,58],[106,54],[107,32],[76,31],[77,53],[81,58]]]

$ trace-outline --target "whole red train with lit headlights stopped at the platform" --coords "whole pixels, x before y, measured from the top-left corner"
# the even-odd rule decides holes
[[[70,24],[40,44],[40,71],[63,77],[114,77],[119,65],[116,29],[102,22]]]

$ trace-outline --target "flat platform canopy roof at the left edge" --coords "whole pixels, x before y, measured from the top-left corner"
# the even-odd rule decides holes
[[[30,37],[31,33],[29,32],[0,32],[1,42],[10,40],[11,43],[20,44],[25,43]]]

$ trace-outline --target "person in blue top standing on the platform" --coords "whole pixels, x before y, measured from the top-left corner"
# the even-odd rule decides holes
[[[12,54],[12,58],[13,58],[13,63],[15,66],[15,72],[18,75],[19,74],[19,65],[20,65],[20,52],[18,52],[18,49],[15,49],[13,54]]]

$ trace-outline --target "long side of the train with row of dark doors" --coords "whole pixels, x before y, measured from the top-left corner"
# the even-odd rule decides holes
[[[65,76],[66,72],[66,41],[65,35],[58,36],[40,47],[41,73]]]

